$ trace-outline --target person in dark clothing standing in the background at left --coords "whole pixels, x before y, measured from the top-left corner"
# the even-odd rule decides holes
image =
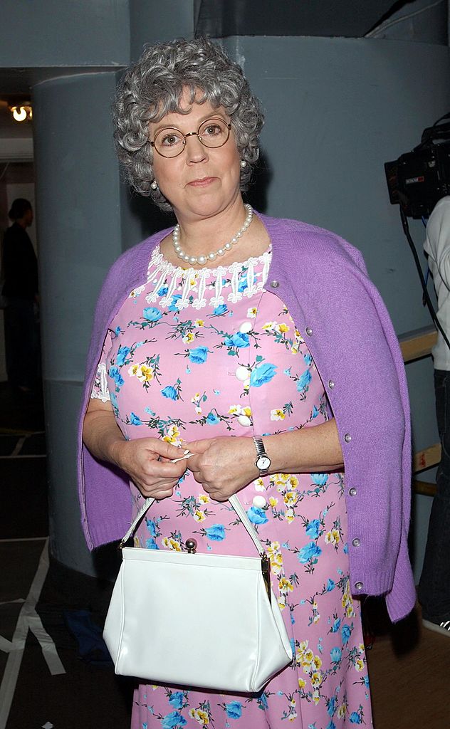
[[[16,198],[8,213],[12,225],[4,234],[2,295],[5,300],[4,336],[8,381],[15,391],[28,393],[39,370],[37,260],[26,232],[33,222],[29,200]]]

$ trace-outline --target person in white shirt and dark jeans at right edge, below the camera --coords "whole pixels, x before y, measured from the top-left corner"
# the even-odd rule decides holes
[[[449,195],[438,200],[432,210],[424,251],[438,297],[438,319],[450,340]],[[432,356],[436,418],[442,451],[418,596],[424,626],[450,638],[450,348],[439,331]]]

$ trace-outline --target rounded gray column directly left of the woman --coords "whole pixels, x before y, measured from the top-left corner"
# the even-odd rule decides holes
[[[114,91],[111,71],[50,79],[33,94],[50,544],[86,574],[97,564],[80,527],[76,425],[93,308],[122,251]]]

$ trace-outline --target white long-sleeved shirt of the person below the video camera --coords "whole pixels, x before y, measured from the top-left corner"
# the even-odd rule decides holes
[[[438,297],[438,320],[450,340],[450,195],[441,198],[430,215],[424,251]],[[439,331],[432,356],[435,370],[450,370],[450,349]]]

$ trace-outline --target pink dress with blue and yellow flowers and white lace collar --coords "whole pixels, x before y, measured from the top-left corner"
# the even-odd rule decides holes
[[[111,399],[126,438],[179,445],[276,434],[330,417],[301,332],[282,300],[264,289],[270,261],[268,250],[195,271],[174,267],[155,249],[147,283],[110,324],[93,389],[93,397]],[[136,512],[142,497],[133,484],[131,494]],[[238,496],[270,555],[295,662],[258,695],[141,685],[132,729],[371,726],[360,605],[349,591],[344,476],[276,473]],[[198,552],[255,554],[230,505],[212,501],[187,471],[173,498],[147,512],[135,541],[179,551],[191,536]],[[198,616],[200,641],[208,619]],[[220,660],[214,645],[211,660]]]

